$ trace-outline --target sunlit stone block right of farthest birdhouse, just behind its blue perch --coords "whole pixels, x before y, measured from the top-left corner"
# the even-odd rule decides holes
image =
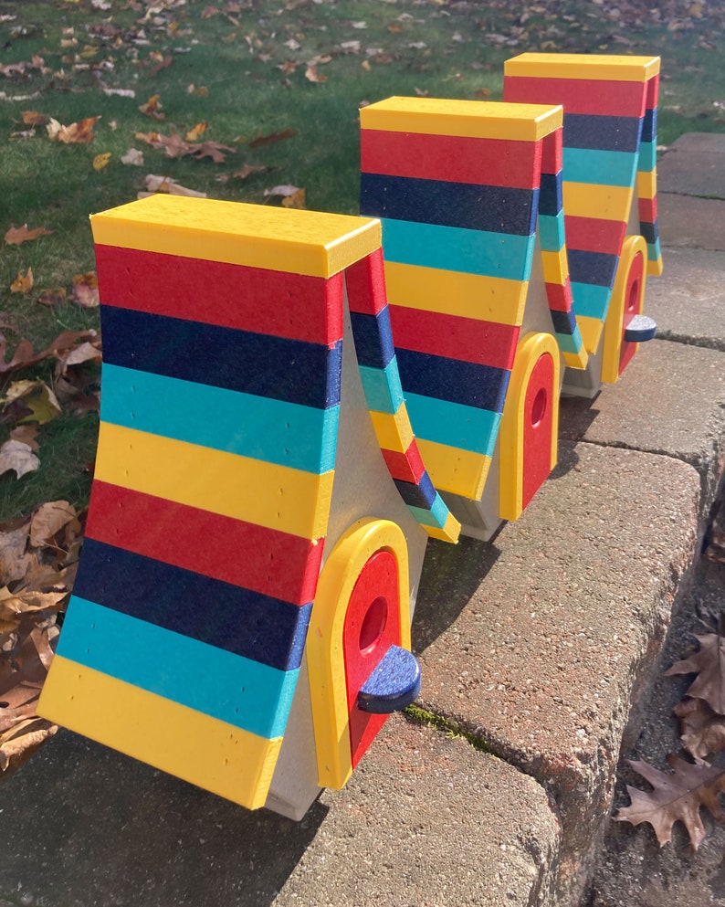
[[[646,313],[660,340],[725,352],[725,252],[667,248],[664,274],[647,280]]]

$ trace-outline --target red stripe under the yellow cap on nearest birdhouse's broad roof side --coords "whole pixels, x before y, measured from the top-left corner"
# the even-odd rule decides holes
[[[342,336],[342,275],[331,279],[96,246],[104,305],[310,343]]]

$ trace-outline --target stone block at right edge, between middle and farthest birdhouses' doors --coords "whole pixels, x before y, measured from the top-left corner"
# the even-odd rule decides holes
[[[704,515],[725,469],[725,353],[643,343],[619,381],[594,401],[562,400],[559,434],[684,460],[699,472]]]

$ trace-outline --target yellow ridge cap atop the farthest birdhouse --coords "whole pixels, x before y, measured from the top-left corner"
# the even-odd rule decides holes
[[[607,54],[521,54],[503,64],[507,76],[646,82],[659,72],[658,57]]]

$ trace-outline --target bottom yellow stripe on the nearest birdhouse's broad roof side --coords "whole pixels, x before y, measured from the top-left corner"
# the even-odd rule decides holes
[[[264,806],[282,738],[266,740],[56,656],[38,713],[249,809]]]

